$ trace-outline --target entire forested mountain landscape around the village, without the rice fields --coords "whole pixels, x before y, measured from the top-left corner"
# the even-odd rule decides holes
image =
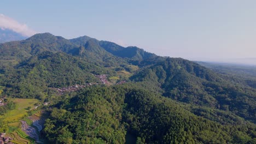
[[[52,143],[256,142],[253,79],[50,33],[0,44],[0,62],[0,97],[51,102]]]

